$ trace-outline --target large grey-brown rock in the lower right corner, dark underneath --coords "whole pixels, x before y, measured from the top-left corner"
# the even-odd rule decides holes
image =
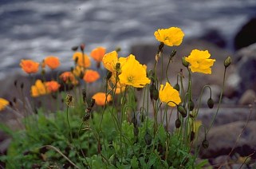
[[[245,126],[246,128],[242,131]],[[255,128],[256,121],[249,121],[247,125],[246,121],[237,121],[211,128],[207,135],[209,147],[202,149],[200,156],[202,158],[215,158],[219,155],[228,155],[233,147],[231,156],[234,153],[241,156],[252,154],[256,151]],[[251,158],[256,159],[256,154],[252,155]]]

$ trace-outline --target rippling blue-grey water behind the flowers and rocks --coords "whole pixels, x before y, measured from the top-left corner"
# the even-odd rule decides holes
[[[1,0],[0,78],[20,72],[21,59],[54,55],[71,66],[73,45],[86,52],[98,45],[109,51],[140,41],[156,42],[156,29],[179,26],[186,37],[218,29],[231,44],[234,33],[256,14],[255,0]],[[229,45],[230,46],[230,45]]]

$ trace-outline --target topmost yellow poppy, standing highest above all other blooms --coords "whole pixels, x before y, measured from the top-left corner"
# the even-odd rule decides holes
[[[182,29],[177,27],[158,29],[154,35],[157,41],[163,42],[168,46],[180,45],[184,37]]]

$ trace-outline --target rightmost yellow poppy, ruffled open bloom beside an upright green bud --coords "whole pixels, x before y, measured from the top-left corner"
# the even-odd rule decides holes
[[[211,66],[214,65],[215,59],[209,59],[210,56],[208,50],[194,49],[188,57],[185,57],[185,60],[191,64],[192,73],[211,74]]]

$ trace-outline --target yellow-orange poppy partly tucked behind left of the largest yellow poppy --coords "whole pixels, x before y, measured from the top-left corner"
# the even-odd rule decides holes
[[[120,73],[120,68],[124,65],[126,58],[118,58],[118,53],[112,51],[111,53],[105,54],[102,61],[105,69],[108,69],[112,73],[116,73],[116,71]],[[119,67],[116,67],[116,65],[119,65]]]

